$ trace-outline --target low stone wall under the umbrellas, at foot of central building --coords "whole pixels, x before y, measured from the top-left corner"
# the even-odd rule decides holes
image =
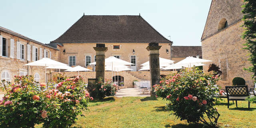
[[[160,71],[160,74],[162,75],[168,75],[170,74],[172,71]],[[176,72],[176,71],[174,71]],[[54,74],[57,74],[58,72],[52,72],[52,76],[54,76]],[[78,72],[61,72],[64,73],[65,76],[71,77],[71,76],[77,76]],[[82,76],[83,80],[85,83],[88,83],[88,78],[95,78],[96,72],[80,72],[79,73],[80,76]],[[133,81],[134,80],[150,80],[150,72],[149,71],[141,71],[141,72],[126,72],[126,71],[122,71],[118,73],[119,76],[123,76],[124,77],[124,86],[119,86],[119,88],[133,88]],[[142,78],[146,78],[146,79],[141,79],[141,76],[146,76],[146,77],[142,77]],[[112,78],[112,72],[105,72],[105,79],[110,79]],[[114,72],[113,72],[113,76],[114,76]],[[116,76],[117,76],[117,72],[116,72]]]

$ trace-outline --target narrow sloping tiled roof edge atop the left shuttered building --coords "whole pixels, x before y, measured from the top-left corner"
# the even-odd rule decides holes
[[[17,36],[17,37],[22,38],[22,39],[24,39],[24,40],[29,40],[29,41],[31,41],[31,42],[34,42],[34,43],[36,43],[36,44],[40,44],[40,45],[42,45],[42,46],[46,46],[46,47],[48,47],[48,48],[52,48],[52,49],[58,50],[57,48],[54,48],[54,47],[49,46],[49,45],[47,45],[47,44],[43,44],[43,43],[38,42],[38,41],[36,41],[36,40],[30,39],[30,38],[28,38],[28,37],[26,37],[26,36],[23,36],[22,34],[19,34],[19,33],[17,33],[17,32],[14,32],[14,31],[12,31],[12,30],[9,30],[9,29],[4,28],[4,27],[1,27],[1,26],[0,26],[0,31],[6,32],[6,33],[11,34],[11,35],[14,35],[14,36]]]

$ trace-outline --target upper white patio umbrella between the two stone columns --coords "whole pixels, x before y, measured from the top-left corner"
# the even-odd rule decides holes
[[[90,65],[94,65],[94,64],[96,64],[96,62],[90,63]],[[130,62],[115,58],[114,56],[110,56],[109,58],[105,59],[105,66],[111,66],[112,71],[114,70],[114,67],[118,65],[133,65],[133,64]],[[113,76],[113,72],[112,72],[112,76]]]

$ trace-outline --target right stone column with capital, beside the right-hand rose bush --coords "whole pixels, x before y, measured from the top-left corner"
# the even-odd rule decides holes
[[[150,96],[155,96],[153,86],[160,82],[160,64],[159,64],[159,46],[158,43],[149,43],[146,48],[149,53],[149,66],[150,66]]]

